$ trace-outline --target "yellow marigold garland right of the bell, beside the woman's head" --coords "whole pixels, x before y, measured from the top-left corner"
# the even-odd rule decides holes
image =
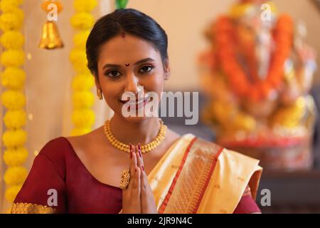
[[[73,65],[76,76],[73,78],[73,114],[72,121],[75,128],[71,135],[82,135],[90,132],[95,123],[95,113],[92,105],[95,101],[92,95],[94,78],[87,68],[87,55],[85,43],[95,19],[90,12],[97,6],[96,0],[74,0],[75,14],[70,23],[78,31],[73,37],[74,48],[70,51],[70,62]]]

